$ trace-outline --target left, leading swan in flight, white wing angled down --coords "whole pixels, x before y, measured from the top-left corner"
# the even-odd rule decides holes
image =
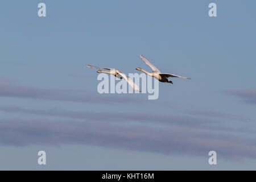
[[[134,89],[134,90],[137,90],[139,92],[141,92],[141,89],[139,89],[139,86],[137,84],[135,84],[135,82],[133,80],[131,80],[131,78],[129,76],[126,76],[125,73],[122,73],[121,71],[119,71],[118,69],[114,69],[114,68],[101,68],[101,67],[94,67],[92,65],[88,65],[86,64],[87,67],[89,68],[96,68],[96,69],[99,69],[97,72],[98,73],[106,73],[106,74],[109,74],[109,75],[114,75],[115,77],[118,77],[120,79],[124,78],[127,83],[129,85],[131,85],[131,87]],[[101,69],[107,69],[109,71],[102,71]]]

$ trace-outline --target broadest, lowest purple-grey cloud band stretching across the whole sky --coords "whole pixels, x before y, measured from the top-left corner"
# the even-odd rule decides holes
[[[214,134],[187,127],[121,126],[98,121],[0,119],[0,144],[28,146],[86,144],[159,154],[256,158],[255,138]]]

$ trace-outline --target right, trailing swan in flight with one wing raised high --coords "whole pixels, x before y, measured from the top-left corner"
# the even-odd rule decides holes
[[[140,56],[141,56],[141,59],[144,61],[144,63],[146,63],[152,69],[153,72],[152,73],[147,72],[142,68],[136,68],[136,69],[138,71],[142,71],[142,72],[146,73],[149,76],[155,77],[160,82],[168,82],[170,84],[174,84],[171,80],[168,79],[168,77],[179,77],[179,78],[186,78],[188,80],[191,80],[191,78],[187,78],[187,77],[183,77],[183,76],[177,76],[177,75],[173,75],[170,73],[161,73],[158,68],[156,68],[152,63],[150,63],[150,61],[148,61],[146,59],[146,57],[143,57],[142,55],[140,55]]]

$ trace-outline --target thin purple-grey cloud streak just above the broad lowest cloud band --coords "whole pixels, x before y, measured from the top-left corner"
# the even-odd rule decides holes
[[[160,115],[151,113],[119,113],[119,112],[92,112],[92,111],[71,111],[63,109],[24,109],[17,106],[0,106],[0,111],[9,113],[24,113],[45,115],[53,117],[64,117],[72,119],[87,119],[93,121],[112,121],[112,122],[127,122],[137,121],[143,123],[166,124],[176,123],[179,125],[204,125],[211,123],[220,123],[216,119],[195,118],[190,116],[180,115]]]

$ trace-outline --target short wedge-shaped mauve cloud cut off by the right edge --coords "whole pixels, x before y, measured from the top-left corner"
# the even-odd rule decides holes
[[[243,98],[249,104],[256,104],[256,89],[229,90],[225,93]]]

